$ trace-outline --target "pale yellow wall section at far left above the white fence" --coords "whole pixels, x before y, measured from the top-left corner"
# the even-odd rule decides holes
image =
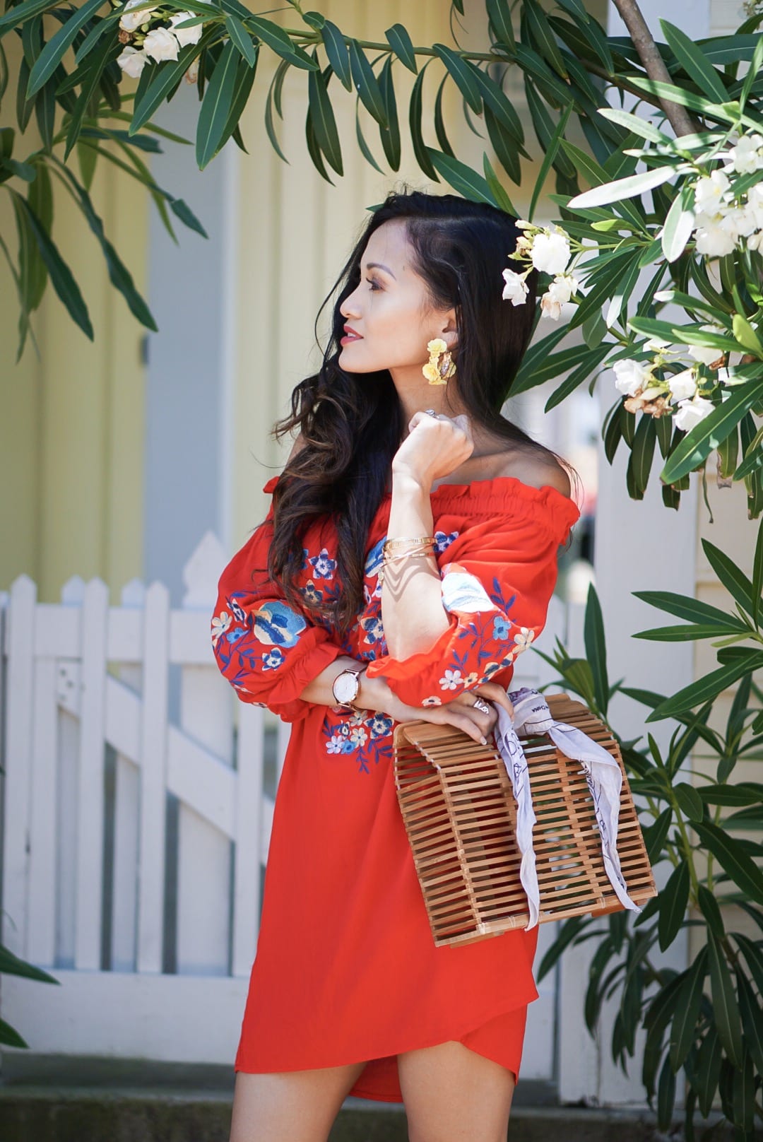
[[[9,37],[6,50],[13,55],[17,42]],[[7,106],[11,99],[6,96]],[[32,124],[17,138],[15,158],[38,145]],[[21,187],[17,179],[13,185]],[[91,199],[143,291],[147,195],[99,160]],[[47,601],[58,598],[73,574],[101,576],[117,590],[143,566],[142,327],[111,286],[101,247],[61,184],[54,202],[54,241],[80,286],[95,340],[74,325],[48,283],[33,317],[40,357],[27,343],[15,364],[16,291],[0,263],[7,299],[0,309],[0,589],[26,572]],[[7,193],[0,194],[0,226],[15,255]]]

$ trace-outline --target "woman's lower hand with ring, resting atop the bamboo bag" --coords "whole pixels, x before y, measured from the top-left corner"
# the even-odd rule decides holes
[[[434,725],[452,725],[463,730],[474,741],[487,745],[498,721],[497,706],[503,706],[514,717],[514,707],[508,694],[497,682],[483,682],[474,690],[465,691],[443,706],[407,706],[393,694],[384,678],[363,678],[356,705],[369,701],[369,708],[380,710],[395,722],[431,722]],[[485,714],[475,702],[488,707]]]

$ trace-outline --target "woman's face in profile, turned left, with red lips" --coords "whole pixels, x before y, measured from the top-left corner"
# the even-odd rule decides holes
[[[394,379],[418,370],[421,379],[427,341],[442,337],[449,348],[456,344],[455,313],[432,308],[424,280],[413,271],[402,218],[374,231],[361,258],[360,283],[339,312],[345,336],[338,363],[347,372],[388,369]]]

